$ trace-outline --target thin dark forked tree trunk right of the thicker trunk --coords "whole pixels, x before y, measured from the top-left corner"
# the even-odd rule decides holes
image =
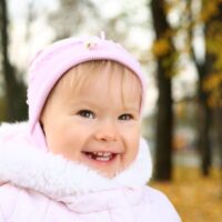
[[[193,22],[191,0],[188,2],[190,9],[190,23]],[[192,27],[192,26],[191,26]],[[204,38],[206,41],[208,23],[205,23]],[[193,39],[193,30],[189,29],[190,44]],[[203,89],[203,83],[208,74],[212,71],[212,57],[205,50],[205,59],[198,60],[194,53],[193,46],[191,44],[191,58],[195,64],[198,72],[198,150],[201,157],[201,171],[203,175],[209,175],[212,150],[210,143],[210,129],[211,129],[211,109],[208,105],[208,92]]]

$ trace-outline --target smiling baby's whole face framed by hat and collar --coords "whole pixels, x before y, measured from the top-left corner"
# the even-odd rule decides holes
[[[93,73],[84,64],[72,68],[53,89],[41,115],[51,152],[109,178],[135,159],[140,139],[140,82],[129,70],[113,65]],[[77,81],[81,84],[73,87]]]

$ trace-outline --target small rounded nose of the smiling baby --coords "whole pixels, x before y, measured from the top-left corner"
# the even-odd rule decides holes
[[[118,128],[111,120],[100,123],[95,132],[97,140],[115,141],[118,139]]]

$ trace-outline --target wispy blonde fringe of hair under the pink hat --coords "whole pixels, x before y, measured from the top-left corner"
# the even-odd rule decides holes
[[[68,72],[71,72],[70,78],[64,78]],[[125,97],[131,91],[135,91],[139,93],[140,99],[142,101],[142,85],[139,80],[139,78],[128,68],[124,65],[111,61],[111,60],[93,60],[80,63],[70,70],[68,70],[57,82],[57,84],[51,90],[47,102],[50,100],[51,95],[54,91],[59,91],[60,89],[68,89],[71,88],[74,91],[79,92],[84,85],[88,84],[95,84],[100,80],[100,75],[109,71],[109,78],[110,78],[110,89],[109,91],[113,90],[111,85],[115,84],[117,77],[120,78],[121,81],[121,99],[122,103],[124,105]],[[130,84],[127,84],[127,82],[130,82]],[[128,87],[130,85],[130,88]],[[140,104],[141,104],[140,101]]]

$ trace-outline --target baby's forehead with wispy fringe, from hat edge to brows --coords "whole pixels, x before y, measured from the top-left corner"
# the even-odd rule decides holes
[[[138,77],[122,64],[107,60],[85,62],[70,69],[52,93],[74,95],[98,89],[110,97],[118,93],[123,103],[132,99],[141,102],[142,88]]]

